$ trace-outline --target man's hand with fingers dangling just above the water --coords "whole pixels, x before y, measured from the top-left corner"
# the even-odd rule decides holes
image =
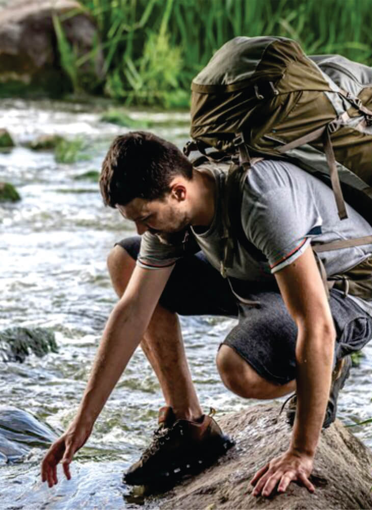
[[[76,451],[87,441],[92,427],[72,423],[63,435],[55,441],[46,452],[41,465],[41,479],[47,481],[49,487],[58,483],[57,465],[62,459],[63,471],[66,478],[71,478],[69,464]]]

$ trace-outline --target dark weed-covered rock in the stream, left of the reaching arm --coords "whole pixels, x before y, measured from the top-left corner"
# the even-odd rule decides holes
[[[0,360],[23,362],[32,352],[40,358],[58,352],[53,331],[47,328],[12,327],[0,331]]]

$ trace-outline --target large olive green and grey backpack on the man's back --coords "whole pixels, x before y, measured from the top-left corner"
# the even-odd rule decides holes
[[[221,272],[241,230],[246,172],[257,157],[287,159],[329,184],[340,219],[344,198],[372,225],[372,68],[339,55],[307,57],[283,37],[235,37],[192,82],[185,154],[231,159]],[[214,152],[207,154],[208,147]],[[237,225],[238,223],[238,225]],[[235,231],[235,232],[234,232]],[[315,246],[372,243],[372,235]],[[372,297],[372,296],[371,296]]]

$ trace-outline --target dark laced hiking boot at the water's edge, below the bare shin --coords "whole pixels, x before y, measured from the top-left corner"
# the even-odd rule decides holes
[[[196,474],[234,445],[208,415],[198,421],[176,420],[172,407],[162,407],[159,423],[140,460],[124,473],[126,484],[152,485]]]

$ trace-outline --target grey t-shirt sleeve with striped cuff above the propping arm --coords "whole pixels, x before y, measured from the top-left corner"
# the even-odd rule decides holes
[[[305,191],[279,187],[262,195],[245,193],[243,228],[268,259],[272,273],[294,262],[311,238],[322,233],[322,218]]]

